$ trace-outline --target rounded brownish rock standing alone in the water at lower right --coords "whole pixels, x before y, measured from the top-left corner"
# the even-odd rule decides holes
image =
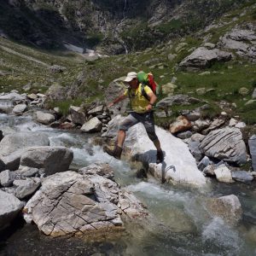
[[[228,224],[237,224],[241,219],[241,203],[236,195],[209,199],[207,207],[213,215],[223,218]]]

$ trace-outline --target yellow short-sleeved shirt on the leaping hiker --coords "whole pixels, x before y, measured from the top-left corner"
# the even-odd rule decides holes
[[[146,107],[148,106],[148,100],[142,94],[142,84],[139,84],[137,89],[130,89],[130,101],[131,101],[131,109],[137,113],[146,112]],[[144,86],[145,92],[148,94],[153,92],[148,85]],[[125,90],[124,95],[129,96],[129,89]]]

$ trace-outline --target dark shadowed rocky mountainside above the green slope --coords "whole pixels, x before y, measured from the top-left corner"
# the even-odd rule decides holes
[[[44,49],[120,54],[196,32],[247,0],[0,0],[0,32]]]

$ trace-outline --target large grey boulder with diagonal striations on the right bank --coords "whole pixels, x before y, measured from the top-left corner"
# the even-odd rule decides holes
[[[200,149],[207,156],[218,160],[237,164],[247,161],[246,145],[237,128],[225,127],[211,131],[201,142]]]

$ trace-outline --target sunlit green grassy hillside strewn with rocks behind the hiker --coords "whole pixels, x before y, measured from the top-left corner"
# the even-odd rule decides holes
[[[229,9],[231,2],[235,4],[234,1],[223,1],[223,4],[226,3]],[[203,1],[200,3],[202,4]],[[213,6],[210,7],[212,8]],[[230,107],[226,109],[226,112],[230,116],[239,115],[247,124],[253,125],[256,123],[256,102],[248,105],[245,103],[251,99],[253,90],[256,88],[255,62],[236,55],[234,52],[236,57],[231,61],[216,62],[204,70],[182,70],[178,64],[205,42],[218,44],[219,38],[226,32],[230,32],[232,28],[247,24],[253,24],[255,27],[255,22],[255,3],[247,1],[242,8],[240,6],[238,9],[225,13],[214,20],[212,26],[197,30],[193,36],[191,34],[172,39],[169,43],[158,44],[129,55],[112,55],[94,61],[86,60],[83,55],[77,53],[39,50],[7,38],[0,38],[0,90],[6,92],[15,89],[22,92],[23,86],[28,83],[32,85],[30,91],[46,92],[52,84],[61,84],[63,88],[69,90],[79,81],[79,90],[75,97],[50,104],[51,108],[59,106],[63,112],[67,113],[70,104],[92,102],[96,99],[103,100],[104,90],[107,90],[108,84],[113,79],[124,76],[131,70],[144,70],[154,73],[155,80],[159,84],[172,81],[176,85],[174,94],[188,94],[207,101],[211,108],[206,111],[205,115],[209,118],[214,118],[222,111],[219,108],[221,102],[228,102]],[[162,23],[158,28],[167,34],[181,26],[183,25],[180,21],[172,20]],[[131,32],[134,31],[131,30]],[[137,32],[140,30],[138,29]],[[128,37],[127,34],[125,36]],[[145,41],[147,42],[147,38]],[[170,55],[173,57],[170,58]],[[67,69],[63,73],[51,73],[49,67],[54,64]],[[247,88],[247,95],[239,93],[241,87]],[[209,92],[200,95],[196,92],[199,88],[205,88]],[[158,122],[164,125],[174,119],[183,109],[195,107],[198,106],[173,107],[172,117],[159,119]]]

